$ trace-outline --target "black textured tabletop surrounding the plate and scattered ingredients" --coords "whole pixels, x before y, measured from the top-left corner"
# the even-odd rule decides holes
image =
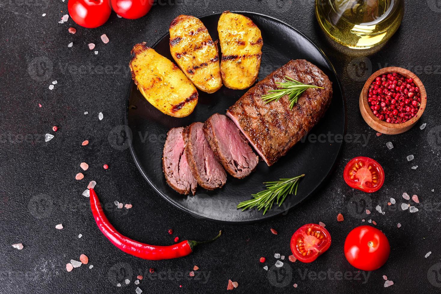
[[[313,1],[159,3],[149,15],[135,21],[112,14],[98,29],[83,29],[71,19],[57,23],[66,13],[67,1],[0,4],[1,293],[134,293],[133,283],[138,274],[144,275],[138,285],[144,293],[218,293],[226,290],[228,279],[239,283],[233,290],[237,293],[439,292],[441,278],[436,270],[441,267],[441,109],[437,96],[441,91],[441,8],[437,1],[418,4],[406,1],[404,22],[398,32],[380,51],[361,58],[341,54],[327,43],[314,18]],[[153,192],[129,151],[114,149],[108,142],[109,132],[123,124],[128,52],[132,45],[141,41],[153,44],[181,13],[200,16],[227,9],[280,18],[310,37],[340,75],[348,102],[348,133],[369,136],[366,146],[359,142],[344,144],[335,172],[318,193],[287,215],[252,225],[219,225],[195,219],[173,207]],[[47,15],[42,17],[43,13]],[[69,26],[77,28],[75,35],[67,32]],[[100,40],[103,33],[110,39],[108,44]],[[67,47],[70,42],[74,43],[72,48]],[[88,43],[97,45],[98,55],[87,48]],[[364,79],[360,61],[371,65]],[[52,70],[36,71],[41,62],[51,65]],[[377,137],[361,118],[358,97],[368,73],[390,65],[407,67],[419,75],[426,86],[428,104],[415,128],[401,135]],[[78,66],[82,66],[81,71]],[[48,87],[54,80],[58,83],[50,91]],[[84,115],[85,111],[89,114]],[[99,112],[104,114],[102,121],[98,120]],[[418,127],[422,123],[427,123],[424,130]],[[53,125],[59,126],[59,130],[55,138],[45,143],[44,134],[53,134]],[[90,140],[90,144],[82,147],[83,140]],[[385,145],[389,141],[395,146],[392,150]],[[415,155],[412,162],[406,161],[409,154]],[[375,158],[385,169],[387,177],[382,189],[361,197],[371,200],[367,208],[372,213],[365,217],[366,221],[376,221],[376,227],[385,232],[392,247],[389,261],[381,269],[370,272],[366,283],[363,275],[362,280],[349,277],[349,273],[358,271],[342,253],[347,233],[357,225],[366,224],[360,220],[364,216],[352,209],[358,191],[342,179],[345,163],[358,155]],[[83,172],[85,178],[77,181],[75,174],[81,171],[81,162],[87,162],[90,168]],[[102,169],[104,163],[110,165],[108,170]],[[413,170],[412,165],[419,167]],[[131,238],[170,244],[176,235],[181,239],[206,239],[219,228],[224,234],[215,243],[201,246],[194,254],[179,260],[152,262],[131,257],[116,250],[98,232],[88,199],[81,195],[90,180],[98,183],[97,192],[108,205],[109,220]],[[415,205],[418,212],[400,209],[402,202],[412,203],[401,197],[405,191],[419,195],[420,203]],[[390,197],[396,199],[396,205],[387,206]],[[132,203],[133,208],[116,209],[115,200]],[[384,215],[375,209],[377,203]],[[344,222],[336,221],[337,213],[343,213]],[[311,264],[287,261],[289,239],[295,229],[318,221],[326,224],[333,238],[328,252]],[[63,230],[55,229],[59,223],[64,225]],[[397,223],[402,227],[397,228]],[[169,228],[174,230],[172,236],[167,233]],[[279,234],[271,234],[270,228],[277,229]],[[83,235],[81,239],[79,233]],[[13,243],[23,243],[25,247],[16,250],[11,247]],[[432,254],[425,258],[429,251]],[[83,265],[66,272],[66,263],[78,260],[82,253],[89,256],[94,267]],[[268,276],[269,272],[258,262],[259,257],[265,256],[266,265],[271,268],[276,261],[274,253],[286,256],[284,272],[280,273],[281,284],[272,276],[273,271]],[[194,265],[205,276],[187,279]],[[151,276],[150,267],[160,275]],[[323,274],[328,271],[332,274]],[[347,278],[335,279],[336,272],[348,272]],[[395,284],[384,288],[382,275]],[[131,280],[127,286],[123,281],[126,276]],[[115,287],[116,283],[122,283],[123,287]],[[276,287],[284,283],[285,287]],[[292,287],[294,283],[299,285],[296,289]]]

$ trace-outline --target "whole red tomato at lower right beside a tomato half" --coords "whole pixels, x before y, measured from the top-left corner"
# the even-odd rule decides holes
[[[363,271],[374,271],[389,258],[390,245],[385,234],[371,226],[359,226],[344,241],[344,255],[351,265]]]

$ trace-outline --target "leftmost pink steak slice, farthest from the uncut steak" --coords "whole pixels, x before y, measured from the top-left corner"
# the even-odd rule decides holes
[[[162,169],[170,187],[180,194],[187,195],[191,191],[194,195],[198,183],[191,173],[184,152],[183,129],[174,128],[168,131],[162,153]]]

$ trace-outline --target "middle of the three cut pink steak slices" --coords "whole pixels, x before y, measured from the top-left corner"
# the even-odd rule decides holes
[[[227,174],[214,156],[205,138],[203,126],[202,122],[194,122],[184,129],[185,153],[198,184],[207,190],[214,190],[225,184]]]

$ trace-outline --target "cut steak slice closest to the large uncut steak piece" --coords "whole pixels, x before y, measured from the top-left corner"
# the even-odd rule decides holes
[[[217,160],[230,175],[242,179],[256,168],[258,156],[231,119],[213,114],[204,124],[204,133]]]

